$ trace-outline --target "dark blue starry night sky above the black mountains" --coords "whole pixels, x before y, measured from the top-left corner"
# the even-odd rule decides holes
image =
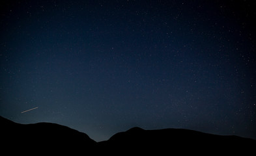
[[[0,115],[96,141],[135,126],[256,139],[255,7],[1,1]]]

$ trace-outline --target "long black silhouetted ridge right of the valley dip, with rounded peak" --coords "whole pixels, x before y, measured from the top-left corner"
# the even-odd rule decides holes
[[[253,149],[256,147],[256,140],[210,135],[188,129],[144,130],[135,127],[117,133],[99,144],[104,151],[115,154],[118,153],[116,149],[129,154],[245,154],[255,152]]]

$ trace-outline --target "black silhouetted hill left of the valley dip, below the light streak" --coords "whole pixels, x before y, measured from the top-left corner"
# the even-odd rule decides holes
[[[74,153],[91,150],[96,142],[85,133],[55,123],[19,124],[0,117],[1,143],[8,151]],[[16,149],[16,150],[13,150]]]

